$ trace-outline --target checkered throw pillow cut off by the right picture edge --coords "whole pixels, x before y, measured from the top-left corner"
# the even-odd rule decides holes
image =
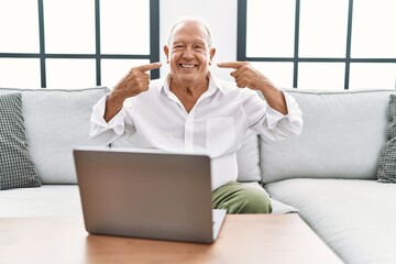
[[[378,182],[396,183],[396,95],[389,96],[387,142],[383,146],[378,161]]]

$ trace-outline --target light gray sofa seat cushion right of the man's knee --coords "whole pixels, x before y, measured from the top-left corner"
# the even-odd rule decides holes
[[[396,185],[360,179],[288,179],[265,186],[345,263],[395,263]]]

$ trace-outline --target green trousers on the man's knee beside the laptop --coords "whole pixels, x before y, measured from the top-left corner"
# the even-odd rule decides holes
[[[267,195],[258,189],[230,182],[212,191],[213,209],[226,209],[227,213],[271,213]]]

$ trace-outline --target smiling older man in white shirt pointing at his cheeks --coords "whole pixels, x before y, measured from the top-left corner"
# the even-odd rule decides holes
[[[94,107],[90,136],[108,144],[134,133],[139,147],[208,153],[213,208],[270,213],[265,193],[237,183],[235,153],[248,130],[272,140],[300,134],[302,113],[296,100],[245,62],[218,64],[232,69],[235,84],[215,78],[209,70],[216,54],[212,34],[200,18],[175,23],[164,53],[170,66],[167,77],[150,80],[146,72],[161,63],[132,68]]]

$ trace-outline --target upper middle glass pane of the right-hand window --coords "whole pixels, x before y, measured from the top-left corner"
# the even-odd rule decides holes
[[[302,0],[299,25],[300,57],[345,56],[348,1]]]

